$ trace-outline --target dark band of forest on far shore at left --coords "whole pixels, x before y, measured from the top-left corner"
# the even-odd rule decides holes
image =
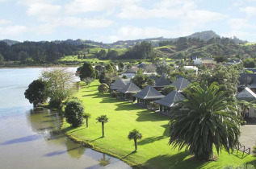
[[[8,45],[0,42],[0,53],[6,61],[54,62],[63,56],[73,55],[82,48],[69,43],[28,42]],[[1,57],[1,56],[0,56]]]

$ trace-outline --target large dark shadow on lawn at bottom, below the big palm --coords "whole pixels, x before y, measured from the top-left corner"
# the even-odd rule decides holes
[[[188,159],[186,159],[188,157]],[[146,167],[152,168],[165,168],[166,163],[168,168],[199,168],[204,167],[204,165],[208,164],[209,162],[200,162],[193,158],[188,151],[178,152],[175,155],[158,155],[152,159],[149,159],[145,162]],[[216,167],[213,167],[216,168]]]

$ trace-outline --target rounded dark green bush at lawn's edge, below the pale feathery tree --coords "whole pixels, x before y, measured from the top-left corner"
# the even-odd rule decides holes
[[[82,126],[83,123],[84,106],[82,101],[76,99],[68,101],[65,107],[65,118],[71,126]]]

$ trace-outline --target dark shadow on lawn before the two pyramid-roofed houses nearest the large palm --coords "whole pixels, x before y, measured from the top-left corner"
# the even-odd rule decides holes
[[[166,117],[160,114],[152,113],[152,112],[149,112],[148,110],[137,113],[137,115],[138,115],[136,119],[137,122],[146,122],[146,121],[157,122],[157,121],[166,121],[167,119]]]

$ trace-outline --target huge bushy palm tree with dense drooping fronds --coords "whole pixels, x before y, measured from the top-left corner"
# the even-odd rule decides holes
[[[170,145],[185,147],[196,159],[212,157],[213,144],[232,152],[238,143],[240,123],[237,105],[225,97],[216,83],[202,81],[186,90],[187,100],[176,104],[170,117]]]

